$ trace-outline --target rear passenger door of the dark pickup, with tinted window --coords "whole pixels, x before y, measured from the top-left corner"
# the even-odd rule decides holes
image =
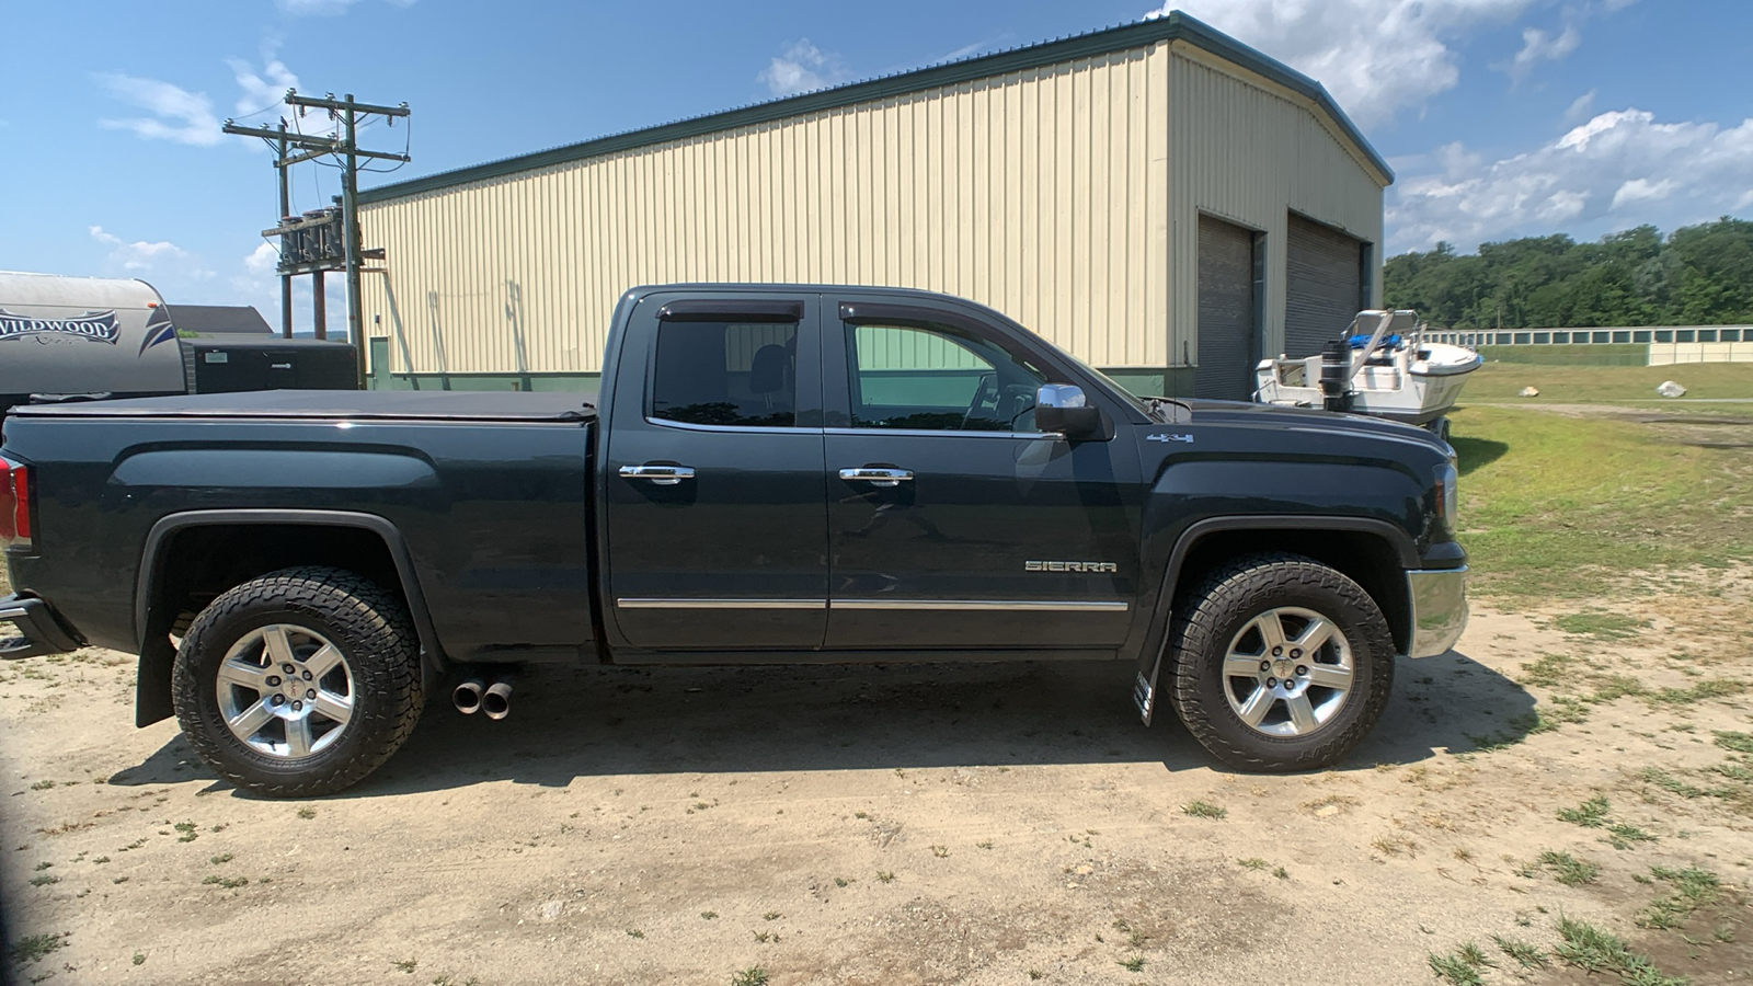
[[[607,451],[607,605],[631,647],[812,649],[827,623],[817,297],[631,311]]]

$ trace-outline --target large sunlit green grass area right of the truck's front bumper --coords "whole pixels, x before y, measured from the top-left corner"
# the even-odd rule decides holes
[[[1753,389],[1753,370],[1739,372]],[[1451,421],[1460,540],[1481,597],[1599,598],[1630,568],[1753,558],[1753,525],[1737,514],[1753,500],[1753,449],[1508,407],[1466,407]],[[1600,614],[1583,626],[1632,630]]]

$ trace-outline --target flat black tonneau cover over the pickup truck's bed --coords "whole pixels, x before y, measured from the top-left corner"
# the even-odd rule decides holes
[[[593,421],[584,393],[270,389],[25,404],[19,418],[317,418],[370,421]]]

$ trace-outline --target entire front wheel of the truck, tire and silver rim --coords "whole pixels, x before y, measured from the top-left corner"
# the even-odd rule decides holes
[[[1369,735],[1394,689],[1394,639],[1362,586],[1309,558],[1211,572],[1175,616],[1169,702],[1231,767],[1327,767]]]

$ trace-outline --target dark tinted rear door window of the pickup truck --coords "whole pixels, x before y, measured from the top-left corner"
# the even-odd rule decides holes
[[[652,372],[654,419],[796,426],[796,323],[661,321]]]

